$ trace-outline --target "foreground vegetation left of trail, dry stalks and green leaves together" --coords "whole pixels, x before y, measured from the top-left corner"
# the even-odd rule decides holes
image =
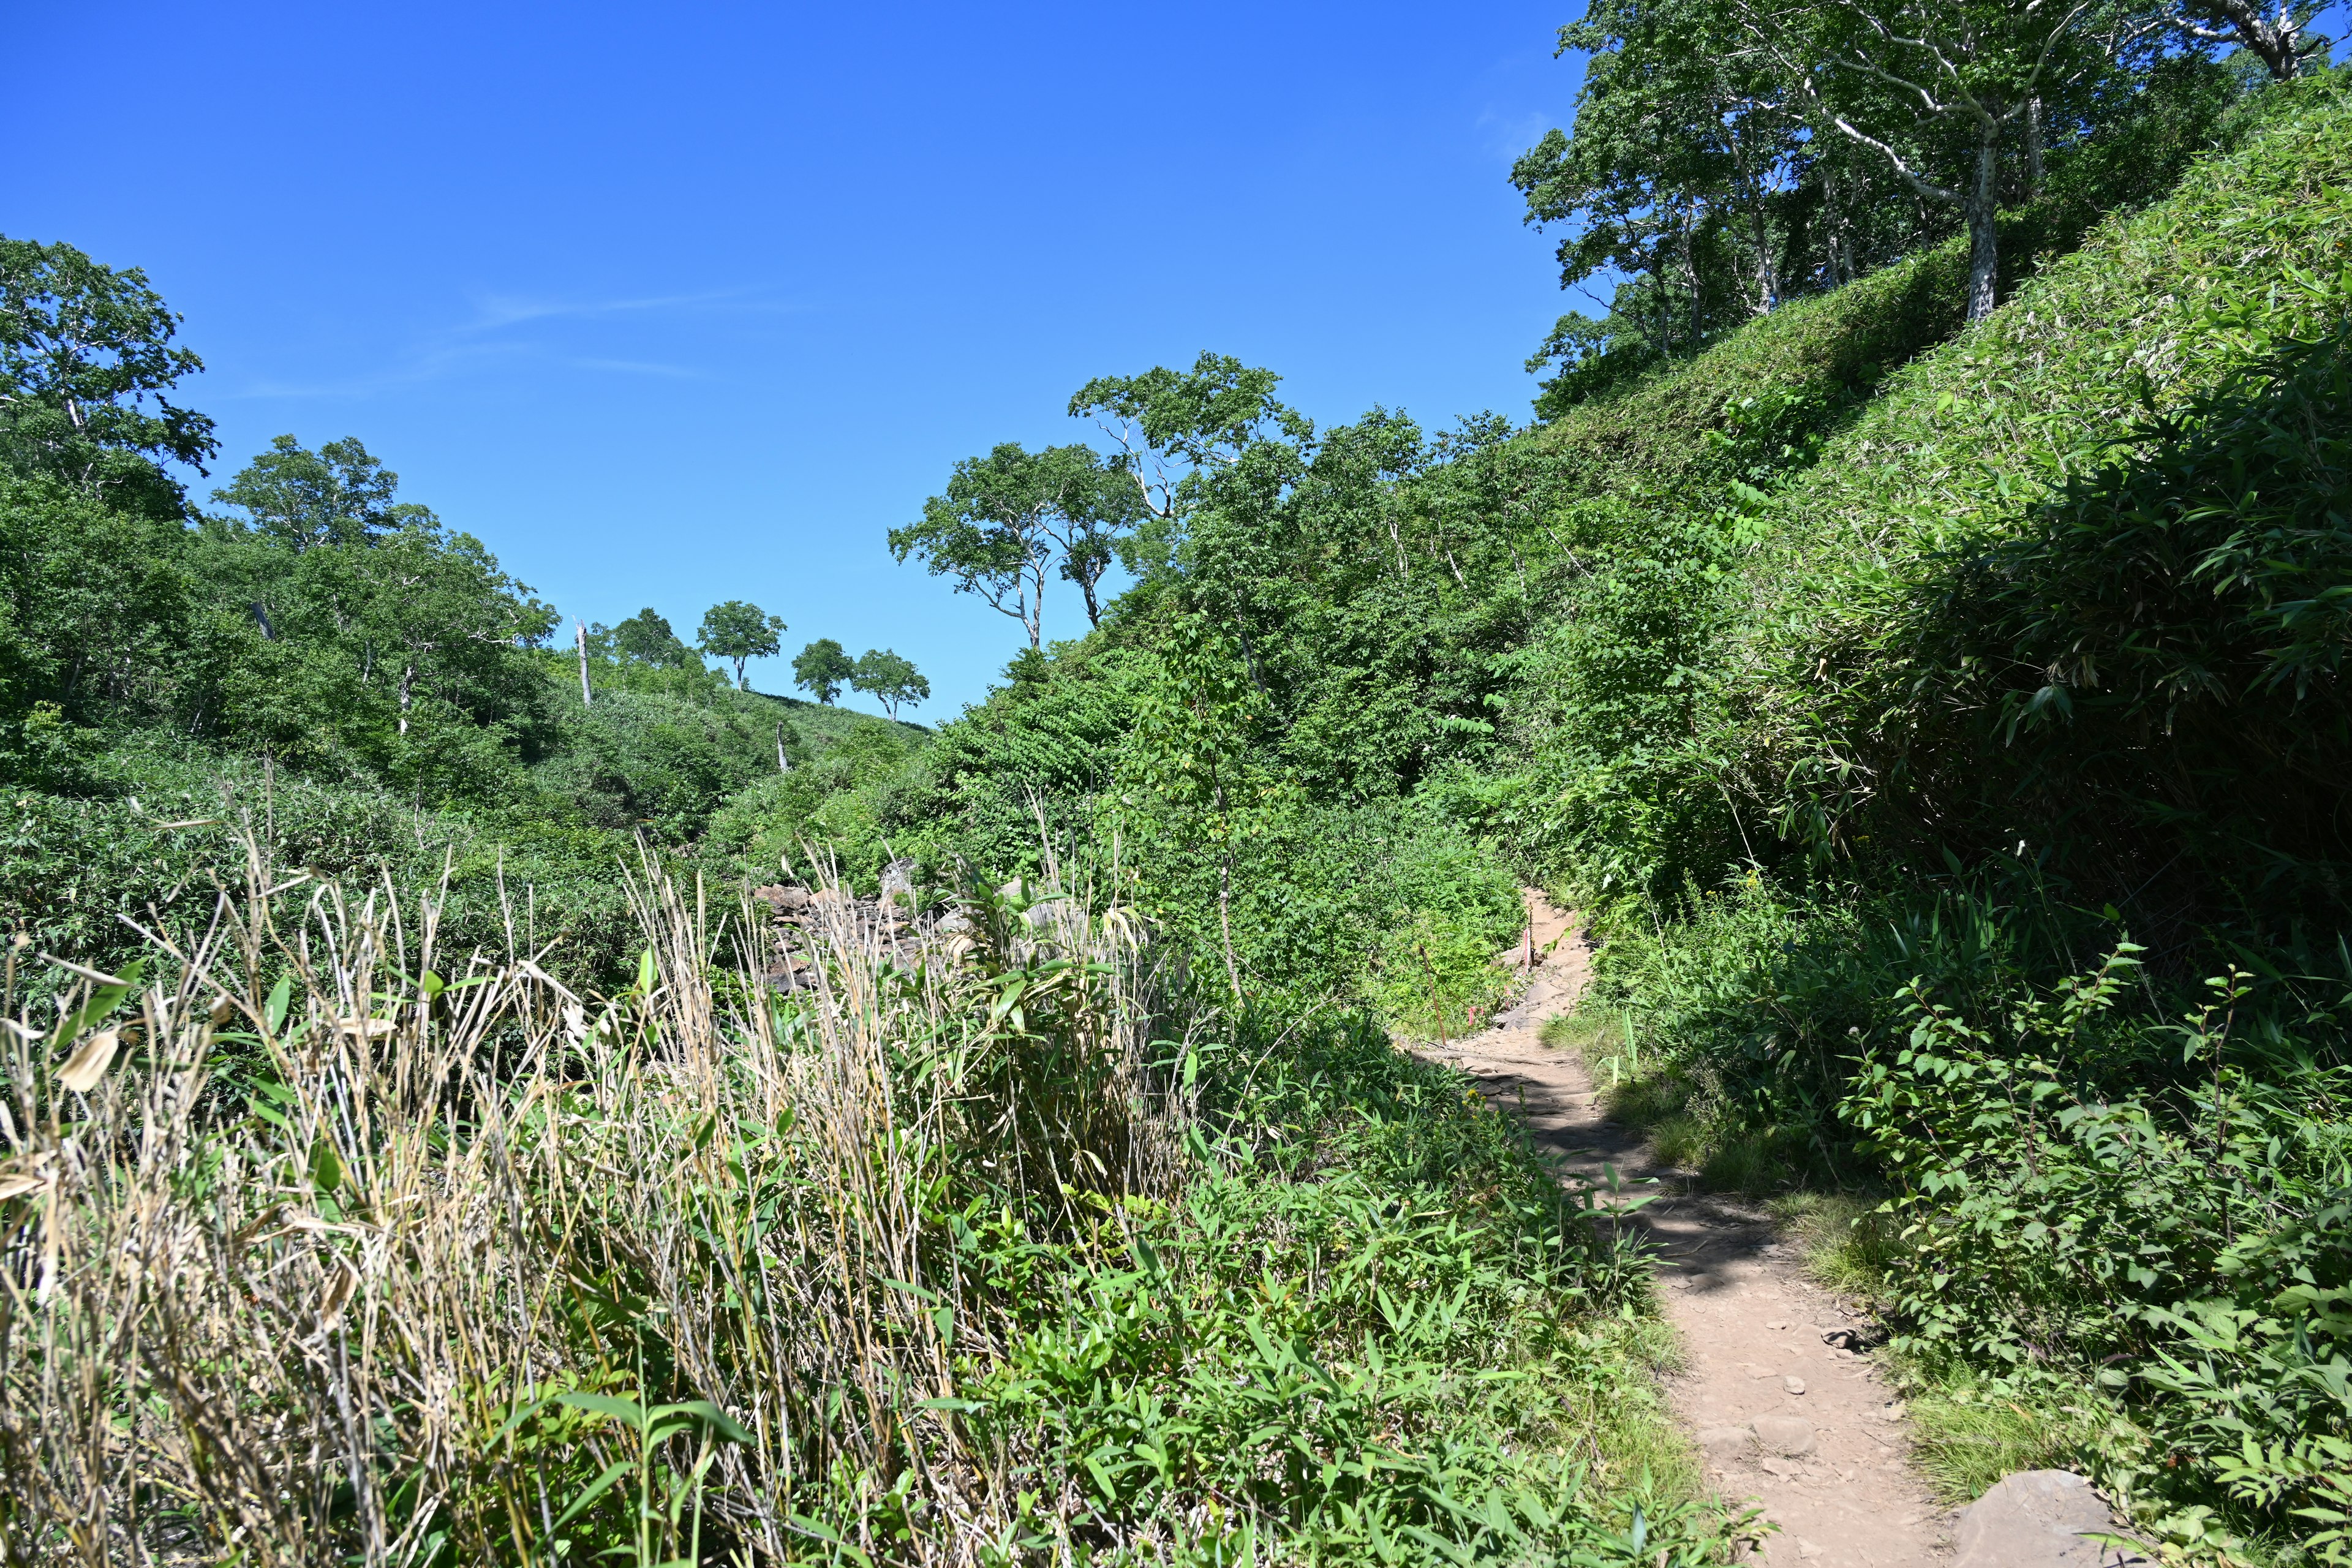
[[[917,945],[656,867],[595,997],[247,870],[113,973],[7,954],[9,1563],[1729,1549],[1588,1204],[1115,905]]]

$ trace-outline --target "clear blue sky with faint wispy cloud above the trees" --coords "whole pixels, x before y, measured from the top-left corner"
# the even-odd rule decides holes
[[[748,597],[938,722],[1021,632],[884,531],[1089,376],[1526,416],[1566,303],[1505,172],[1573,9],[12,5],[0,230],[186,315],[200,496],[358,435],[564,616]]]

